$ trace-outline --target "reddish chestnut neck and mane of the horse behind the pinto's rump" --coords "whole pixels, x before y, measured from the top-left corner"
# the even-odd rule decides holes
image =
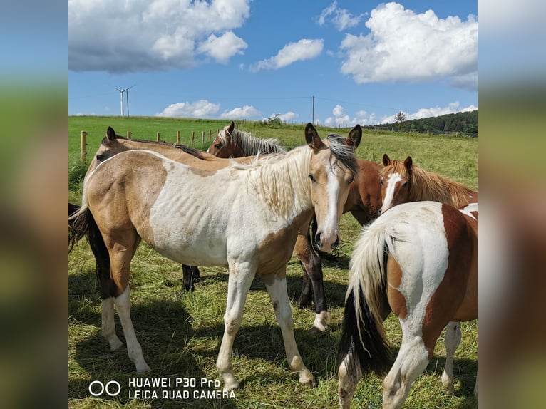
[[[413,169],[412,177],[411,199],[414,201],[433,200],[448,203],[457,208],[478,201],[477,192],[435,173]]]

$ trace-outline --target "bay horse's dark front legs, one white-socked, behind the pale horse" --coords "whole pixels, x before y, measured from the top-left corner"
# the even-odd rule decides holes
[[[315,321],[313,328],[316,331],[324,332],[328,328],[329,314],[326,306],[326,297],[324,296],[322,263],[320,257],[313,251],[309,227],[307,228],[307,234],[298,234],[294,253],[304,269],[304,285],[299,305],[303,308],[311,304],[311,291],[309,291],[309,280],[311,280],[315,300]]]

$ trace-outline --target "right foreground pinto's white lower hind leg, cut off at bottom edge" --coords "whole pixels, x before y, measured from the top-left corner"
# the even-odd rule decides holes
[[[402,345],[396,361],[383,380],[383,408],[401,408],[413,380],[428,364],[428,350],[421,336],[402,334]]]

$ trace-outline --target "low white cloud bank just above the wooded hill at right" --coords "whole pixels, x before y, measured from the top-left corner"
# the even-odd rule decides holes
[[[455,101],[450,103],[447,107],[431,107],[431,108],[421,108],[414,113],[406,113],[406,118],[408,120],[421,119],[421,118],[431,118],[433,116],[446,115],[449,113],[458,113],[458,112],[469,112],[477,110],[478,107],[475,105],[468,105],[467,107],[460,108],[460,103]],[[393,115],[386,115],[382,118],[377,118],[376,113],[367,113],[365,110],[357,111],[354,117],[351,118],[345,112],[345,109],[341,105],[336,105],[332,110],[332,116],[329,116],[324,121],[322,125],[331,126],[331,127],[351,127],[357,123],[360,125],[377,125],[381,123],[393,123],[396,122],[394,119],[396,113]]]

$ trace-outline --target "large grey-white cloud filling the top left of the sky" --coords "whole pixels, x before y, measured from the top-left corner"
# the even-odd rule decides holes
[[[232,30],[249,17],[250,1],[68,0],[68,68],[185,69],[199,53],[225,63],[247,46]]]

